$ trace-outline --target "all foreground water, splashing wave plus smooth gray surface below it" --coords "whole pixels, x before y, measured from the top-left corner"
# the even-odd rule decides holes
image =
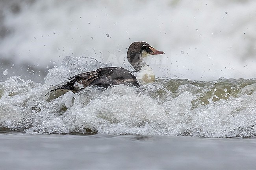
[[[158,78],[49,93],[104,66],[69,56],[44,84],[0,82],[0,169],[255,169],[255,79]]]

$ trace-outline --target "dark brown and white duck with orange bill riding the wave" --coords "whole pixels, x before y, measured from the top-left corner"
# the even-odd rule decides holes
[[[164,52],[158,51],[147,42],[134,42],[128,48],[127,59],[135,71],[129,71],[119,67],[99,68],[95,71],[80,73],[68,78],[69,82],[58,89],[78,92],[87,86],[108,88],[119,84],[139,86],[154,82],[154,72],[143,58],[158,54],[164,54]]]

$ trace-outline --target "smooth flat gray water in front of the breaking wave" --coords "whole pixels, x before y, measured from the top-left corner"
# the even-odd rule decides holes
[[[0,135],[1,170],[254,170],[256,140]]]

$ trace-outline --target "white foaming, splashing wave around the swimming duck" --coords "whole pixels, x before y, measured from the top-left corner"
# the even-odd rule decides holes
[[[256,136],[256,80],[210,82],[159,78],[139,88],[87,87],[49,99],[68,77],[111,66],[93,58],[66,57],[45,84],[12,76],[0,82],[1,130],[26,133],[100,133]]]

